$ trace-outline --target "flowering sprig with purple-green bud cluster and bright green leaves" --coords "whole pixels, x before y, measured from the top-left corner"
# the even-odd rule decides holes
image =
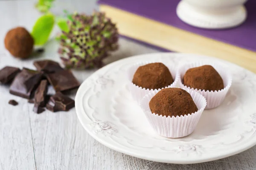
[[[43,1],[39,2],[43,4]],[[116,25],[102,12],[86,15],[69,14],[64,10],[64,14],[65,17],[55,17],[48,11],[38,18],[31,33],[35,45],[47,42],[56,23],[61,29],[61,34],[56,37],[60,43],[58,53],[66,68],[101,67],[102,59],[118,48]]]

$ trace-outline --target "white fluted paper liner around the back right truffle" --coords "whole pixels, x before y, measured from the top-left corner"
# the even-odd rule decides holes
[[[189,68],[195,68],[202,65],[212,65],[212,67],[215,68],[215,70],[218,72],[218,74],[220,74],[221,78],[223,79],[224,89],[221,89],[219,91],[208,91],[208,90],[205,91],[201,89],[190,88],[183,85],[182,79],[186,71]],[[207,106],[205,109],[212,109],[212,108],[218,107],[225,99],[225,96],[232,84],[232,76],[230,72],[227,70],[227,68],[224,68],[223,66],[221,66],[221,64],[218,64],[216,62],[199,61],[199,62],[184,64],[179,67],[177,71],[177,76],[179,77],[178,84],[180,88],[188,89],[190,91],[191,90],[197,91],[198,93],[202,94],[206,98]]]

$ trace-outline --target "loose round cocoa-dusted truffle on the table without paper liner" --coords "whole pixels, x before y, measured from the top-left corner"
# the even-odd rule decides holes
[[[34,40],[23,27],[9,30],[4,39],[6,49],[18,58],[27,58],[33,51]]]

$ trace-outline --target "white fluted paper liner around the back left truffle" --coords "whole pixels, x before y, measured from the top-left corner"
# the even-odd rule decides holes
[[[148,62],[137,62],[135,63],[134,65],[132,65],[129,69],[128,69],[128,88],[129,88],[129,91],[131,92],[131,96],[133,97],[133,99],[138,103],[140,104],[140,101],[141,99],[146,95],[148,94],[149,92],[151,91],[157,91],[157,90],[160,90],[159,89],[145,89],[145,88],[142,88],[142,87],[139,87],[138,85],[135,85],[133,82],[132,82],[132,79],[134,77],[134,74],[135,72],[137,71],[137,69],[142,66],[142,65],[146,65],[146,64],[149,64],[149,63],[154,63],[154,62],[157,62],[157,61],[148,61]],[[175,69],[175,66],[172,66],[172,65],[168,65],[168,64],[165,64],[163,63],[164,65],[166,65],[167,68],[169,68],[169,71],[171,72],[172,74],[172,78],[174,80],[174,82],[165,87],[165,88],[171,88],[171,87],[176,87],[177,85],[177,82],[178,82],[178,77],[176,76],[176,69]],[[163,88],[162,88],[163,89]]]

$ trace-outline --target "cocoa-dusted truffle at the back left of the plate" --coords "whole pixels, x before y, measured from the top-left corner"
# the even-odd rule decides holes
[[[145,89],[165,88],[173,82],[169,69],[161,62],[140,66],[132,82]]]

